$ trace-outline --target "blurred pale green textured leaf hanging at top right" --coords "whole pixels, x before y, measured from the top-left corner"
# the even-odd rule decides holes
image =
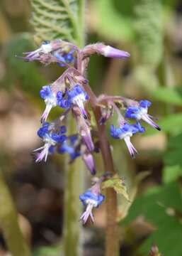
[[[163,52],[162,3],[160,0],[135,1],[134,9],[140,61],[155,69]]]

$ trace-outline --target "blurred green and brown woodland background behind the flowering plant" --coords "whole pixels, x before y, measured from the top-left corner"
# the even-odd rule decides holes
[[[57,158],[35,164],[31,152],[41,143],[36,136],[44,107],[40,87],[63,69],[15,58],[35,48],[30,16],[28,1],[1,0],[0,166],[34,255],[51,256],[59,255],[62,238],[64,174]],[[146,126],[145,134],[132,139],[140,151],[134,160],[124,142],[110,139],[115,168],[134,201],[131,207],[122,197],[118,201],[121,255],[147,255],[154,243],[166,256],[181,256],[182,1],[90,0],[86,26],[88,43],[105,42],[131,54],[127,61],[91,58],[94,92],[151,101],[149,114],[159,117],[161,127],[156,132]],[[96,162],[101,171],[101,159]],[[86,256],[103,255],[104,204],[95,216],[94,227],[85,228]],[[0,255],[6,255],[2,235]]]

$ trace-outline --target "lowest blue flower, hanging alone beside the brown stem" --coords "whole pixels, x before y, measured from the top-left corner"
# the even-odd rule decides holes
[[[91,216],[91,221],[94,223],[93,208],[98,208],[101,206],[105,196],[101,194],[100,183],[96,183],[93,185],[88,191],[81,194],[79,199],[84,206],[86,206],[86,210],[81,215],[80,220],[85,224],[88,220],[89,216]]]

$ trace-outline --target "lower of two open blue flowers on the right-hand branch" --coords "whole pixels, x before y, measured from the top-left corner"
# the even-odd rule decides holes
[[[138,126],[138,124],[128,124],[127,122],[121,124],[119,128],[115,128],[112,124],[110,126],[110,135],[114,139],[124,139],[127,149],[133,158],[135,154],[137,154],[137,149],[135,149],[135,146],[130,142],[130,137],[137,132],[144,132],[144,128],[142,128]]]

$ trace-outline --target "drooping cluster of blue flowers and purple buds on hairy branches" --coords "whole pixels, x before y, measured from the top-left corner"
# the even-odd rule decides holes
[[[80,49],[62,40],[44,41],[40,48],[25,53],[22,57],[26,61],[38,60],[45,65],[57,63],[67,68],[55,82],[43,86],[40,90],[40,97],[45,101],[45,111],[42,113],[42,126],[38,129],[38,136],[44,144],[34,150],[36,162],[47,161],[49,154],[69,154],[70,164],[77,157],[81,157],[91,175],[96,174],[93,153],[98,153],[100,146],[96,127],[91,125],[89,104],[92,109],[99,108],[101,114],[96,120],[98,125],[105,124],[113,117],[114,112],[117,114],[116,124],[110,125],[110,135],[114,139],[125,141],[132,158],[137,154],[137,149],[130,139],[134,134],[145,131],[141,121],[160,130],[154,122],[154,117],[148,114],[148,108],[151,105],[148,100],[137,102],[126,97],[109,95],[96,97],[86,79],[89,58],[95,53],[110,58],[130,57],[129,53],[103,43],[91,44]],[[53,107],[60,107],[64,111],[54,121],[47,122],[47,117]],[[67,127],[62,124],[69,112],[72,112],[72,117],[76,122],[76,134],[67,134]],[[130,122],[130,119],[135,121]],[[83,223],[86,223],[89,216],[94,221],[92,210],[98,208],[104,200],[101,194],[101,183],[106,178],[108,178],[106,175],[95,178],[93,186],[80,195],[81,203],[86,206],[86,210],[80,217]]]

